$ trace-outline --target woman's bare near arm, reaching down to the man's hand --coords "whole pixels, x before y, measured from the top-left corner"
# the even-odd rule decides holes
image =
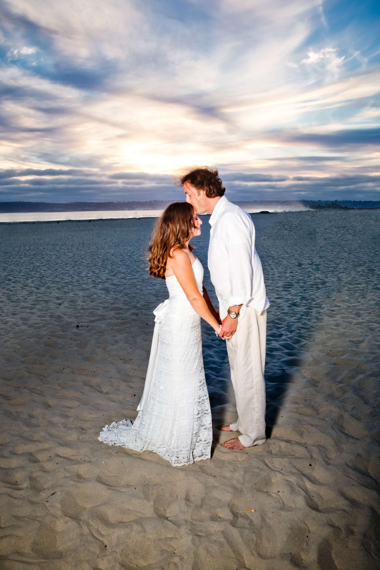
[[[218,321],[215,319],[215,316],[211,314],[205,299],[203,299],[201,293],[198,291],[189,256],[183,250],[174,250],[170,265],[191,307],[193,307],[194,311],[202,317],[202,319],[205,319],[205,321],[213,327],[214,331],[219,331]]]

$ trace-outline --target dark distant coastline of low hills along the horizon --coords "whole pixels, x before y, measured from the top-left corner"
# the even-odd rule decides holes
[[[0,202],[0,213],[37,212],[80,212],[120,210],[164,210],[175,200],[150,200],[149,202]],[[380,201],[370,200],[245,200],[234,201],[244,210],[254,211],[298,211],[301,209],[373,209],[380,207]]]

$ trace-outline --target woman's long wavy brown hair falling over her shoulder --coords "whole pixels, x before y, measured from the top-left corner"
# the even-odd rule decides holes
[[[165,279],[166,263],[171,249],[183,249],[194,229],[194,208],[187,202],[174,202],[158,218],[150,236],[149,273]],[[189,245],[189,250],[194,247]]]

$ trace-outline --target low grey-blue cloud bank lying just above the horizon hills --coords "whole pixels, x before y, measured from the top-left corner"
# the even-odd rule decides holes
[[[53,172],[52,176],[48,176],[46,170],[42,170],[40,175],[34,170],[32,177],[22,179],[20,176],[22,172],[30,172],[30,170],[0,172],[1,200],[106,202],[149,201],[153,198],[158,200],[183,199],[182,188],[169,182],[168,175],[157,176],[130,172],[121,173],[128,174],[126,177],[115,178],[112,173],[94,176],[93,172],[86,172],[83,169],[80,171],[80,176],[62,176],[58,174],[59,170]],[[324,173],[318,176],[287,176],[286,174],[245,173],[239,170],[220,172],[219,175],[226,186],[226,195],[230,200],[330,199],[332,193],[334,198],[367,194],[368,199],[377,200],[380,196],[380,175],[362,174],[358,169],[352,174],[339,176]]]

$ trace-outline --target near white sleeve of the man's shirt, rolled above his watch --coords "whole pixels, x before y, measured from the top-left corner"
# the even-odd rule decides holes
[[[231,292],[228,306],[247,305],[251,300],[254,270],[252,249],[255,236],[244,218],[226,213],[220,219],[223,243],[228,255],[228,279]]]

